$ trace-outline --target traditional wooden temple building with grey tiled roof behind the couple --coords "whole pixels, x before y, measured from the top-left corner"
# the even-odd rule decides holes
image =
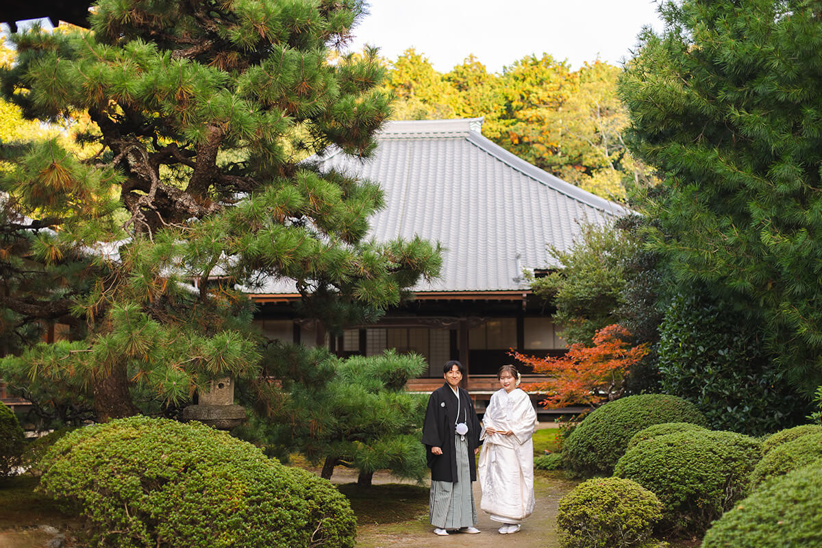
[[[534,355],[564,352],[552,307],[532,296],[525,272],[556,267],[547,246],[568,249],[581,225],[629,213],[517,158],[481,133],[482,118],[390,122],[372,159],[330,150],[321,168],[382,187],[386,208],[371,219],[370,237],[414,236],[444,248],[441,277],[413,288],[416,298],[390,309],[376,325],[355,325],[329,337],[298,318],[293,283],[271,281],[252,298],[256,322],[276,338],[323,344],[340,356],[386,348],[417,352],[429,369],[409,389],[442,383],[451,359],[468,370],[464,383],[478,404],[497,388],[496,371],[510,348]]]

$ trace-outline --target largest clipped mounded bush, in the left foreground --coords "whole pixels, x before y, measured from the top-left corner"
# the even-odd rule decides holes
[[[199,423],[131,417],[58,440],[40,486],[88,520],[91,546],[351,547],[328,481]]]

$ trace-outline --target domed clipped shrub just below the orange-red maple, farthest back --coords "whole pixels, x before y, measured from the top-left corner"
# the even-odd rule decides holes
[[[562,458],[575,472],[610,475],[634,435],[662,422],[705,417],[693,403],[666,394],[640,394],[608,402],[589,413],[562,443]]]

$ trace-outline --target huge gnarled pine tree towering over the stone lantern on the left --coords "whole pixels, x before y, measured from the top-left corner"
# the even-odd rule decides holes
[[[2,329],[70,332],[0,374],[70,379],[101,420],[137,397],[173,407],[210,379],[264,374],[242,288],[292,279],[333,329],[436,275],[427,242],[365,241],[376,184],[301,162],[332,146],[366,158],[390,112],[376,50],[327,61],[362,14],[359,0],[101,0],[91,32],[14,35],[7,100],[94,124],[84,148],[9,147]]]

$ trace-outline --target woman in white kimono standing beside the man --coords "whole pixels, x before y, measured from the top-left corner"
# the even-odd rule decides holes
[[[491,396],[483,417],[483,444],[479,454],[480,508],[502,523],[503,535],[518,532],[533,512],[533,431],[537,413],[528,394],[518,389],[520,373],[502,366],[496,374],[501,389]]]

